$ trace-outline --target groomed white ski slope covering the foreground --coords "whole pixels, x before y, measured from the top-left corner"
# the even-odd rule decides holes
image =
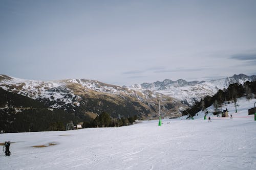
[[[0,169],[255,169],[256,100],[225,106],[233,119],[164,119],[119,128],[0,134],[14,142]],[[223,106],[224,107],[224,106]],[[223,108],[223,109],[225,109]],[[211,109],[211,108],[208,108]],[[213,109],[213,108],[212,108]],[[33,148],[34,145],[49,145]]]

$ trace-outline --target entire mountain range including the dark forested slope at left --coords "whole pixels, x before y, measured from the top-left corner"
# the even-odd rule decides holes
[[[10,125],[23,127],[24,117],[29,126],[23,131],[34,126],[32,120],[34,124],[39,124],[52,115],[55,115],[51,119],[56,124],[70,120],[90,122],[102,112],[109,113],[113,118],[137,115],[141,119],[151,119],[159,116],[159,101],[162,116],[178,117],[182,110],[206,95],[212,96],[233,83],[255,80],[256,76],[240,74],[211,81],[165,79],[120,87],[86,79],[36,81],[0,75],[0,118],[5,120],[2,129],[12,127],[12,132],[16,129]],[[34,130],[44,130],[50,125],[48,121],[48,125]]]

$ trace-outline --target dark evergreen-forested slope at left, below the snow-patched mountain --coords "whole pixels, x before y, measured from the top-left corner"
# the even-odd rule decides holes
[[[66,130],[81,119],[62,109],[49,110],[43,103],[0,88],[0,131],[37,132]]]

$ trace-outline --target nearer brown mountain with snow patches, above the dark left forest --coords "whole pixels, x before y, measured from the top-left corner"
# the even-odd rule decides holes
[[[162,112],[169,116],[179,115],[179,108],[184,107],[178,100],[157,91],[140,92],[86,79],[36,81],[0,75],[0,88],[28,96],[52,109],[64,109],[79,117],[95,116],[103,111],[113,117],[118,114],[126,117],[135,114],[154,117],[158,115],[159,98],[162,100]]]

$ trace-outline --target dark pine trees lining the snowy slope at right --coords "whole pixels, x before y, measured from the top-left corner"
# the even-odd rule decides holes
[[[205,108],[212,104],[217,108],[214,114],[218,113],[218,107],[225,101],[232,101],[236,104],[237,99],[246,96],[247,100],[254,98],[256,95],[256,81],[230,84],[227,89],[219,90],[214,96],[205,96],[201,101],[196,102],[191,108],[182,112],[182,115],[195,116],[199,111],[205,111]],[[206,111],[207,112],[207,111]]]

